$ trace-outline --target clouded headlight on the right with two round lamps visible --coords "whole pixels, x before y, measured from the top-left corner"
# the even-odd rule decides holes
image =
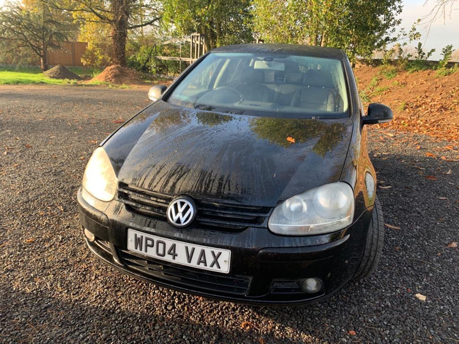
[[[336,182],[280,203],[269,217],[268,227],[283,235],[324,234],[349,226],[353,217],[353,190],[347,183]]]

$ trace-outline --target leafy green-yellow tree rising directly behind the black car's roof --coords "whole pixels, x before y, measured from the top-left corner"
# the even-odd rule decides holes
[[[265,42],[340,48],[354,60],[395,40],[401,11],[401,0],[253,0],[253,30]]]

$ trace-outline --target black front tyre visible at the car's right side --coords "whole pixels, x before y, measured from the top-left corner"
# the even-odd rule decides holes
[[[355,272],[354,279],[363,279],[375,271],[381,258],[383,245],[384,219],[382,217],[381,203],[379,203],[376,197],[365,242],[364,254],[360,266],[358,266]]]

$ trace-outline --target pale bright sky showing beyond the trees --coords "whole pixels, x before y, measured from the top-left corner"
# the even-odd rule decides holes
[[[0,6],[4,2],[5,0],[0,0]],[[429,14],[434,4],[435,0],[427,0],[427,2],[425,0],[403,0],[403,12],[400,15],[402,18],[401,27],[409,30],[418,18],[422,19]],[[424,50],[436,49],[431,60],[438,60],[441,57],[442,48],[448,44],[453,44],[453,49],[459,49],[459,1],[456,1],[453,6],[451,16],[448,13],[446,21],[439,17],[433,22],[428,36],[426,28],[420,26],[418,31],[422,34],[421,42],[425,44]],[[412,45],[417,45],[417,42]]]

